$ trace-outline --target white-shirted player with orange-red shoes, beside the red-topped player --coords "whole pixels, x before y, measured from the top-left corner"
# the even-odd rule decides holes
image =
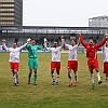
[[[69,86],[72,85],[72,79],[71,79],[71,69],[73,70],[75,73],[75,83],[73,86],[77,86],[77,81],[78,81],[78,48],[80,45],[80,41],[77,44],[77,41],[75,39],[71,40],[71,45],[70,44],[65,44],[65,46],[69,50],[69,57],[68,57],[68,78],[69,78]]]

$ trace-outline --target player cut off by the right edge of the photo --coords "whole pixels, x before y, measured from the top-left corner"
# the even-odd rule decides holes
[[[108,87],[108,41],[103,46],[104,54],[104,73],[106,75],[106,85]]]

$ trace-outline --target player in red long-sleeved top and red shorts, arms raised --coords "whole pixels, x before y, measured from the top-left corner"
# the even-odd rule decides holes
[[[80,37],[80,42],[86,49],[86,57],[89,58],[87,66],[89,66],[89,70],[91,72],[92,89],[94,89],[95,82],[94,82],[93,69],[95,69],[95,71],[97,73],[98,84],[103,83],[103,81],[100,80],[100,75],[99,75],[99,64],[97,60],[97,50],[105,44],[108,37],[106,36],[99,44],[95,44],[95,45],[94,45],[93,39],[90,39],[89,43],[85,43],[82,39],[81,33],[79,33],[79,37]]]

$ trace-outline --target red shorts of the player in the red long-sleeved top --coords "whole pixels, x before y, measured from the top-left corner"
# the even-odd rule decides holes
[[[92,71],[93,69],[99,69],[99,64],[97,59],[89,59],[87,66],[90,71]]]

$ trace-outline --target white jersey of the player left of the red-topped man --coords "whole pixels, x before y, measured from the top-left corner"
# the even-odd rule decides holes
[[[69,57],[68,57],[68,60],[78,60],[78,44],[72,46],[72,45],[69,45],[69,44],[66,44],[65,45],[68,50],[69,50]]]

